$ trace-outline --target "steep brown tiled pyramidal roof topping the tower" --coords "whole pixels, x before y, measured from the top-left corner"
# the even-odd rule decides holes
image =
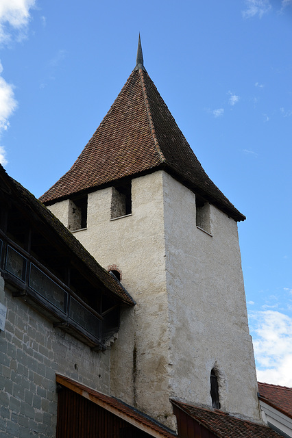
[[[143,66],[137,65],[71,169],[40,201],[55,203],[125,177],[164,169],[235,220],[244,220],[212,183]]]

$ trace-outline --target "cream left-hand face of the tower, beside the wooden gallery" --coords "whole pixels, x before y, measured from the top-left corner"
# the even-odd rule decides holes
[[[163,172],[132,180],[132,214],[111,220],[112,188],[88,194],[87,229],[74,233],[97,261],[121,272],[136,301],[111,348],[111,393],[175,428],[169,402]]]

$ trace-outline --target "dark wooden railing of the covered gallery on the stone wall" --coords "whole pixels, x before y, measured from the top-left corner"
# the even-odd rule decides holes
[[[13,295],[24,298],[54,326],[95,349],[104,349],[102,316],[0,230],[0,270]]]

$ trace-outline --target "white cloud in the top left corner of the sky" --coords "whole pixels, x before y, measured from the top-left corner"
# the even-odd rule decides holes
[[[29,23],[29,10],[34,8],[36,0],[0,1],[0,43],[25,38]],[[16,32],[16,34],[15,34]]]

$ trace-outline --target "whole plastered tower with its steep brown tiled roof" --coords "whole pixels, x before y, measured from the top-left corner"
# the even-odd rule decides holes
[[[260,421],[237,223],[143,65],[41,198],[136,300],[111,394],[174,426],[169,398]],[[102,354],[102,353],[101,353]]]

